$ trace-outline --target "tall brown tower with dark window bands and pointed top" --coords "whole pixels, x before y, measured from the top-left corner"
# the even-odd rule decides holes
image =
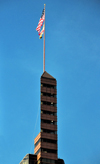
[[[34,155],[20,164],[64,164],[58,159],[57,147],[57,81],[46,71],[41,76],[41,129],[34,139]],[[33,156],[33,161],[32,161]],[[27,163],[24,163],[28,161]],[[31,162],[30,162],[31,161]]]

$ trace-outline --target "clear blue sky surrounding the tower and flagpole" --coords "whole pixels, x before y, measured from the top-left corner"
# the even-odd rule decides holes
[[[0,0],[0,163],[34,153],[43,73],[36,26],[44,3],[46,71],[57,79],[58,157],[99,164],[99,0]]]

